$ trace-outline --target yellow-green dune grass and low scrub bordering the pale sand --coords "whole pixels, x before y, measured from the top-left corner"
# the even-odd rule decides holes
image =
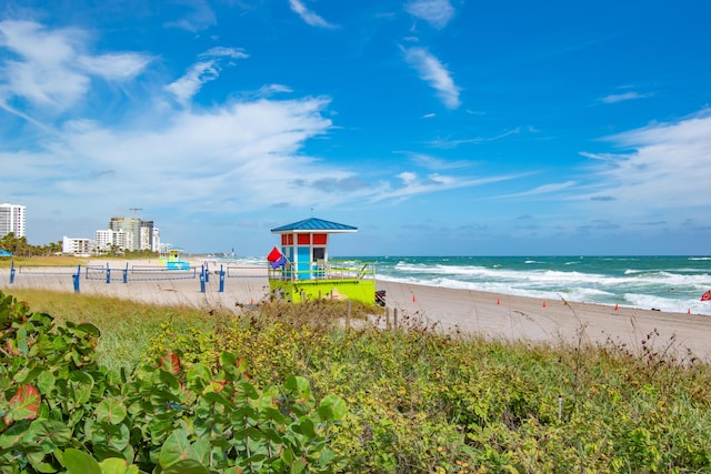
[[[242,357],[258,385],[289,375],[347,401],[331,445],[342,472],[711,472],[711,366],[652,332],[641,351],[344,327],[343,305],[268,303],[237,313],[17,291],[34,311],[92,322],[101,362],[164,351],[184,366]],[[581,334],[583,329],[581,329]],[[581,337],[582,341],[582,337]]]

